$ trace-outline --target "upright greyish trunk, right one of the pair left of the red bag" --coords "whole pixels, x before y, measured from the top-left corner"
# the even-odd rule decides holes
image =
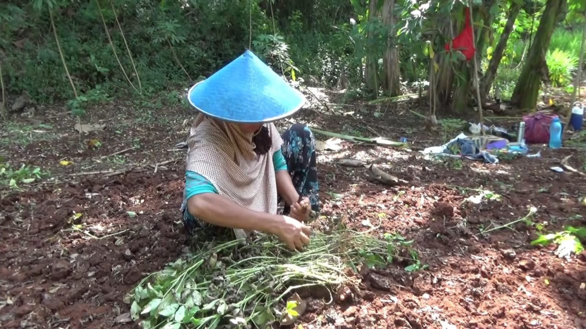
[[[395,0],[384,0],[383,4],[383,24],[386,26],[394,25],[394,6]],[[384,67],[384,80],[383,85],[385,90],[391,97],[400,94],[399,86],[399,56],[397,47],[393,44],[394,28],[389,30],[387,36],[387,48],[384,50],[383,67]]]

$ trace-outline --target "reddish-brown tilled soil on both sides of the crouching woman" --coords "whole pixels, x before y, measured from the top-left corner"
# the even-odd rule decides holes
[[[35,135],[26,145],[2,145],[5,159],[50,169],[55,181],[2,194],[0,327],[136,327],[126,322],[124,294],[188,248],[178,211],[185,154],[166,151],[185,139],[188,115],[167,112],[165,124],[137,122],[114,115],[119,108],[94,114],[108,128],[83,135],[82,146],[71,132],[73,119],[62,116],[42,121],[50,121],[52,138]],[[409,134],[420,147],[441,143],[436,135],[408,128],[414,125],[407,117],[396,118],[401,124],[380,119],[357,129],[389,138]],[[35,124],[31,120],[21,119]],[[356,125],[343,115],[317,115],[312,122],[332,131]],[[88,149],[91,138],[100,139],[101,148]],[[303,328],[586,328],[584,253],[568,262],[554,255],[554,246],[531,246],[536,225],[526,222],[480,234],[523,217],[530,206],[538,208],[532,222],[543,224],[544,231],[584,225],[580,198],[586,196],[586,179],[549,170],[571,154],[571,164],[581,168],[583,155],[544,149],[536,159],[485,165],[342,145],[342,150],[319,153],[326,219],[315,228],[335,222],[377,236],[401,234],[414,239],[421,263],[429,268],[406,272],[402,263],[385,270],[363,268],[357,274],[362,286],[345,301],[326,304],[308,297],[308,311],[299,321]],[[104,157],[131,146],[136,148],[117,161]],[[408,184],[376,183],[366,168],[338,165],[342,157],[363,157]],[[62,159],[74,164],[61,166]],[[66,176],[132,167],[137,169],[121,174]],[[479,204],[467,200],[481,190],[500,197],[485,197]]]

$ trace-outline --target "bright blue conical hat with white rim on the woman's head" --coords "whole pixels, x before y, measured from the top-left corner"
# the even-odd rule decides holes
[[[229,122],[271,122],[294,114],[305,98],[250,50],[188,92],[198,111]]]

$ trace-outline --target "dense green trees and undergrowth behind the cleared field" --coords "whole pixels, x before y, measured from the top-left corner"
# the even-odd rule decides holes
[[[583,2],[8,0],[0,61],[9,100],[28,92],[74,111],[113,97],[171,99],[251,47],[289,79],[349,97],[425,91],[432,81],[438,109],[464,112],[475,104],[473,62],[444,45],[472,5],[482,99],[534,108],[548,86],[571,90]]]

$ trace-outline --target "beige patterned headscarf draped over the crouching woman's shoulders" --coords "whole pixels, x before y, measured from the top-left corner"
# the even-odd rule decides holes
[[[274,124],[267,124],[272,145],[261,156],[254,153],[253,134],[236,124],[199,115],[188,138],[186,169],[206,177],[218,193],[250,210],[277,213],[277,184],[272,155],[282,139]],[[236,238],[247,232],[235,229]]]

